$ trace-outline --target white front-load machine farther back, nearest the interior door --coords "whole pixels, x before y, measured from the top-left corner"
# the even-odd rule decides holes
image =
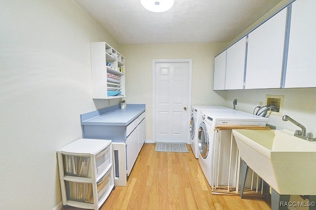
[[[198,158],[198,139],[197,131],[198,125],[201,122],[201,111],[202,110],[233,110],[225,106],[217,105],[194,105],[191,109],[191,119],[190,119],[190,143],[193,154]]]

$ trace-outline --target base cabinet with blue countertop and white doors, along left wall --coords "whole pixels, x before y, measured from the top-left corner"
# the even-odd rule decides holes
[[[126,186],[138,153],[145,142],[146,105],[119,105],[81,114],[83,138],[111,139],[114,154],[114,183]]]

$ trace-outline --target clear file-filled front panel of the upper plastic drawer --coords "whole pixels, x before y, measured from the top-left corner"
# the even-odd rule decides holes
[[[90,156],[63,154],[64,174],[91,178]]]

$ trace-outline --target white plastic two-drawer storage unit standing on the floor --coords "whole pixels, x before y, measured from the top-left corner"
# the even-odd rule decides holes
[[[111,140],[79,139],[57,157],[63,205],[98,210],[114,188]]]

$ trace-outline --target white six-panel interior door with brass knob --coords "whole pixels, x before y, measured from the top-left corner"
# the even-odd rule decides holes
[[[188,142],[191,59],[154,60],[153,133],[156,142]]]

